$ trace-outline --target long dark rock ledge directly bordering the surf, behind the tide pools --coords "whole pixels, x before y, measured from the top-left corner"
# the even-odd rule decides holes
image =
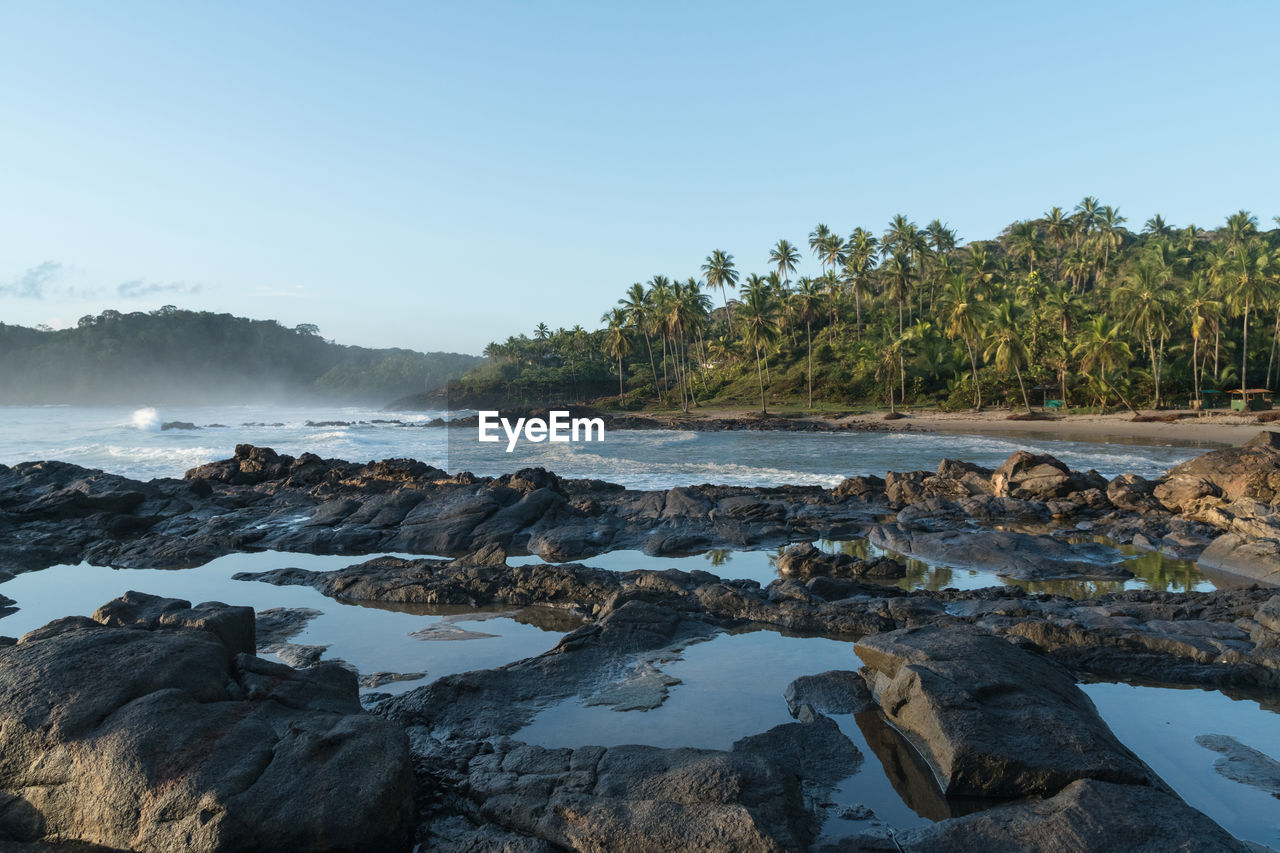
[[[1257,452],[1280,470],[1280,453]],[[1226,528],[1251,539],[1271,529],[1245,521],[1233,528],[1221,507],[1219,516],[1197,505],[1178,517],[1152,505],[1165,484],[1148,494],[1149,483],[1108,484],[1052,457],[1021,453],[996,471],[943,460],[937,471],[852,478],[835,489],[637,492],[562,480],[541,469],[477,478],[415,460],[356,464],[242,444],[234,457],[196,467],[183,480],[142,483],[63,462],[0,466],[0,571],[81,560],[175,567],[268,548],[430,553],[472,565],[502,565],[508,555],[568,561],[628,548],[684,555],[858,535],[888,512],[900,514],[900,526],[928,532],[972,533],[972,521],[1064,530],[1087,524],[1119,542],[1140,534],[1183,556],[1198,555]],[[1249,506],[1266,494],[1244,491],[1253,496]],[[1235,506],[1233,517],[1244,508]]]

